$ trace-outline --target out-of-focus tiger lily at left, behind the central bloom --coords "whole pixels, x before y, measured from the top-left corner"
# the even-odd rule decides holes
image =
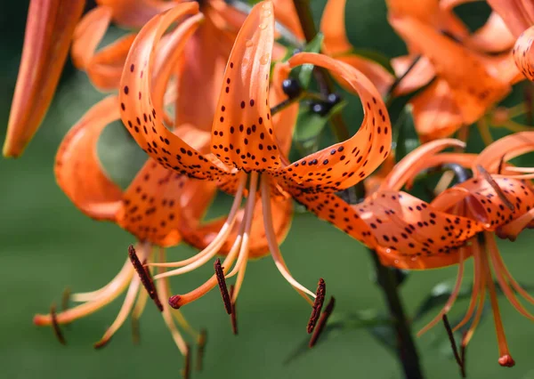
[[[105,98],[94,105],[69,131],[61,142],[56,157],[56,180],[84,214],[94,220],[117,223],[132,233],[138,241],[136,250],[141,261],[165,262],[164,247],[175,246],[182,240],[179,232],[182,207],[187,207],[189,214],[198,220],[214,197],[215,187],[210,183],[192,181],[174,174],[152,159],[147,161],[124,191],[109,180],[97,156],[97,141],[104,128],[119,118],[118,104],[117,96]],[[192,132],[185,127],[181,131],[182,135]],[[198,131],[195,131],[194,135],[198,149],[201,149],[207,139],[202,138]],[[153,250],[158,247],[160,251],[156,254]],[[126,291],[117,319],[94,345],[95,348],[100,348],[109,342],[128,314],[132,313],[134,320],[141,316],[148,293],[140,291],[140,284],[140,278],[134,275],[134,267],[126,260],[117,276],[106,286],[71,296],[75,302],[81,304],[57,315],[36,315],[34,323],[38,326],[54,327],[70,323],[100,310]],[[174,342],[182,354],[187,356],[187,343],[174,324],[169,306],[158,301],[158,294],[167,297],[168,291],[168,283],[159,282],[154,300],[162,310]],[[175,313],[174,317],[185,331],[191,333],[195,339],[199,338],[198,333],[189,327],[180,313]]]

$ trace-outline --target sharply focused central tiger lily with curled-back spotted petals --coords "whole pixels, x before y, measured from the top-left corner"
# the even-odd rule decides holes
[[[351,217],[351,208],[337,198],[334,192],[363,180],[389,154],[391,124],[384,102],[368,79],[346,63],[320,54],[296,54],[282,67],[291,69],[307,63],[333,71],[344,80],[345,85],[352,88],[353,93],[360,94],[365,118],[360,131],[349,140],[289,163],[285,157],[287,151],[282,150],[279,141],[284,141],[282,133],[288,134],[287,128],[283,126],[293,125],[295,117],[287,121],[286,117],[282,117],[286,110],[271,115],[270,109],[273,11],[270,1],[256,4],[239,31],[224,72],[223,87],[214,117],[210,142],[212,154],[202,154],[166,129],[160,114],[152,105],[150,80],[141,75],[142,70],[150,72],[153,69],[154,47],[166,28],[186,14],[197,14],[198,5],[182,4],[150,20],[137,36],[126,60],[125,67],[133,69],[125,69],[123,73],[119,100],[123,122],[137,127],[137,130],[134,127],[128,128],[135,141],[160,164],[193,178],[216,182],[221,189],[234,194],[236,198],[227,222],[199,253],[211,258],[214,254],[223,253],[220,246],[229,241],[231,251],[224,259],[223,270],[190,293],[172,296],[169,302],[174,308],[180,308],[206,294],[217,286],[218,280],[223,281],[223,278],[237,275],[231,300],[235,302],[251,256],[250,236],[254,220],[263,223],[260,229],[265,233],[272,259],[280,273],[299,294],[312,303],[311,299],[316,294],[291,276],[280,253],[273,222],[284,216],[277,211],[277,203],[290,204],[291,198],[295,198],[320,218],[336,224],[357,238],[364,238],[357,225],[352,223],[358,220]],[[141,101],[137,93],[142,94]],[[202,103],[201,99],[196,101]],[[280,117],[279,123],[274,120],[276,117]],[[240,199],[246,194],[244,222],[234,236],[229,230],[235,222]],[[261,201],[261,209],[256,206],[256,198]],[[336,214],[338,207],[344,214]],[[287,206],[278,208],[287,209]],[[237,262],[232,268],[235,261]],[[174,264],[182,265],[179,262],[168,263],[166,266]],[[169,271],[166,275],[181,273],[180,270]]]

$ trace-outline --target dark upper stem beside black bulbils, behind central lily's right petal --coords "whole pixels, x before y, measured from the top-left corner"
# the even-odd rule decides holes
[[[312,10],[310,9],[310,0],[293,0],[295,4],[295,10],[298,14],[298,19],[300,20],[301,26],[303,28],[303,33],[306,38],[306,42],[311,42],[313,38],[317,35],[317,29],[313,23]],[[334,92],[334,82],[332,78],[328,75],[328,71],[322,68],[315,68],[313,70],[315,79],[320,86],[320,91],[323,94],[333,93]],[[334,134],[336,135],[337,141],[345,141],[350,137],[349,130],[344,124],[343,117],[336,114],[330,118]]]

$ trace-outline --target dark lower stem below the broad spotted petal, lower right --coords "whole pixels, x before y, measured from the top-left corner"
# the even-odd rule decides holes
[[[369,250],[373,262],[375,263],[376,278],[382,286],[385,300],[392,317],[393,326],[397,335],[397,351],[401,361],[404,377],[407,379],[424,378],[423,371],[419,365],[416,344],[414,343],[409,320],[404,313],[401,297],[397,291],[397,277],[395,272],[382,265],[378,255]]]

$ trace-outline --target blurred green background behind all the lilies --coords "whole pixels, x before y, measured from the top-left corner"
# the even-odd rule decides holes
[[[348,33],[352,43],[376,49],[392,57],[404,52],[404,44],[387,25],[385,5],[378,0],[348,2]],[[323,0],[312,1],[317,19]],[[460,11],[472,26],[488,14],[483,5]],[[20,61],[28,1],[0,4],[0,119],[7,125],[9,107]],[[114,31],[114,33],[118,33]],[[79,117],[103,95],[89,85],[85,74],[66,69],[59,92],[41,130],[26,153],[16,160],[0,160],[0,376],[5,378],[146,378],[180,377],[182,357],[167,333],[161,316],[149,303],[141,320],[140,345],[133,345],[129,322],[105,349],[93,350],[105,327],[116,316],[120,301],[91,317],[81,319],[63,332],[67,346],[60,345],[48,327],[35,327],[32,317],[46,312],[51,302],[61,302],[66,286],[73,291],[99,288],[112,278],[125,260],[126,247],[134,239],[117,226],[93,222],[77,211],[57,187],[53,157],[61,141]],[[347,109],[348,117],[359,117],[359,105]],[[351,125],[357,127],[359,120]],[[125,185],[144,157],[121,125],[111,125],[99,151],[109,172]],[[0,130],[4,139],[5,126]],[[134,161],[125,170],[120,162]],[[216,202],[213,214],[222,214],[228,203]],[[510,270],[523,283],[532,283],[534,262],[530,254],[532,234],[524,233],[514,244],[499,241]],[[322,276],[328,293],[336,295],[336,319],[360,310],[384,310],[383,297],[372,280],[372,263],[363,246],[311,214],[297,214],[283,243],[287,264],[304,285],[314,287]],[[169,258],[183,257],[192,250],[174,248]],[[467,267],[470,275],[471,264]],[[198,286],[212,273],[211,265],[173,280],[175,292]],[[433,286],[454,278],[456,270],[413,272],[401,287],[409,314]],[[468,276],[468,278],[470,278]],[[217,291],[183,309],[194,327],[208,329],[205,368],[194,378],[400,378],[396,358],[365,328],[347,327],[324,338],[312,351],[301,349],[307,340],[305,324],[309,307],[281,278],[270,259],[252,262],[239,295],[239,336],[231,335],[230,320]],[[465,311],[457,302],[453,315]],[[414,329],[439,309],[417,322]],[[512,355],[513,369],[498,366],[493,323],[486,317],[467,351],[467,373],[471,378],[534,378],[534,325],[501,299],[501,310]],[[453,316],[454,318],[454,316]],[[445,331],[434,328],[417,339],[427,378],[459,377],[451,358]]]

